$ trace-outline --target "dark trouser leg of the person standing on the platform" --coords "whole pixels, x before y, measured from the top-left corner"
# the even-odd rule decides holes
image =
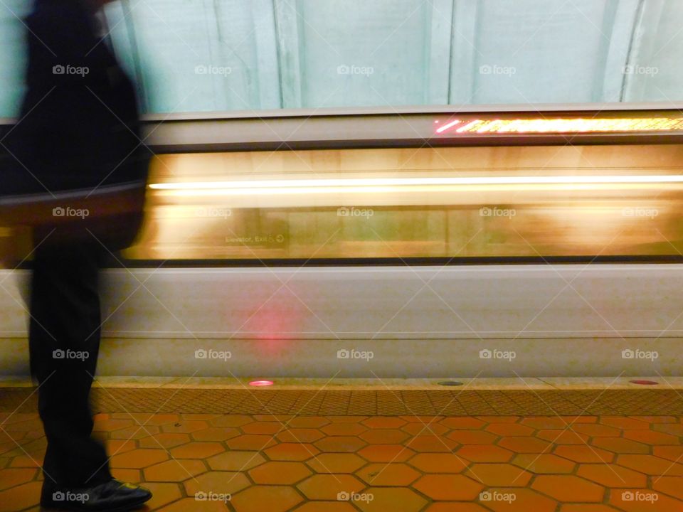
[[[111,479],[105,448],[90,437],[88,401],[100,348],[99,257],[93,247],[38,247],[33,262],[29,351],[48,439],[46,488]]]

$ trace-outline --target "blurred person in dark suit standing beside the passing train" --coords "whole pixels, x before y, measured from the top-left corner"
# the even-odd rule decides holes
[[[5,144],[14,165],[0,176],[0,195],[146,180],[134,85],[102,43],[97,22],[105,3],[36,0],[26,18],[26,95]],[[41,505],[76,511],[142,505],[152,494],[112,479],[105,448],[91,435],[101,324],[97,274],[107,247],[92,233],[63,238],[59,228],[38,231],[35,246],[29,348],[48,439]]]

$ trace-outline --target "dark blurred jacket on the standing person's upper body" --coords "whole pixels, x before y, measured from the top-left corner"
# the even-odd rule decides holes
[[[80,0],[36,0],[26,95],[4,141],[0,195],[147,178],[134,85]]]

